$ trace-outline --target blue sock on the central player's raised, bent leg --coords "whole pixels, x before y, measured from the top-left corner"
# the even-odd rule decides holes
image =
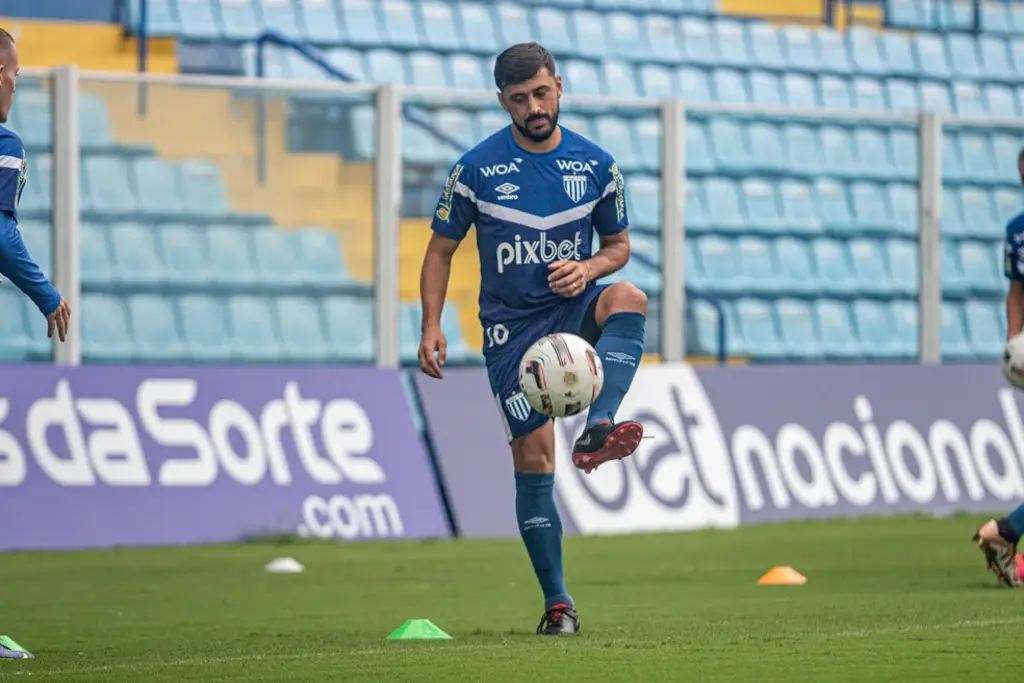
[[[646,322],[643,313],[612,313],[604,321],[604,330],[594,349],[604,366],[604,386],[591,403],[588,427],[601,420],[614,422],[618,405],[640,367]]]

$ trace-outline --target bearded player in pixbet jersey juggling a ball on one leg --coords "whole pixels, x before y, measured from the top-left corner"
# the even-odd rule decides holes
[[[512,125],[466,153],[441,193],[420,276],[420,367],[442,376],[440,318],[452,257],[475,223],[483,354],[512,449],[519,532],[544,592],[537,631],[575,633],[580,620],[562,577],[553,422],[523,397],[519,361],[534,342],[556,332],[594,345],[604,386],[572,462],[590,472],[626,458],[643,428],[614,416],[643,353],[647,297],[629,283],[596,282],[630,257],[623,177],[607,152],[558,125],[562,80],[554,58],[537,43],[513,45],[498,56],[494,75]],[[595,231],[600,248],[592,253]]]

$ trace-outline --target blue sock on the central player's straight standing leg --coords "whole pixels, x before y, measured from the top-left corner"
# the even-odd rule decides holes
[[[555,475],[515,473],[515,516],[534,572],[544,591],[544,608],[572,606],[562,579],[562,520],[555,507]]]

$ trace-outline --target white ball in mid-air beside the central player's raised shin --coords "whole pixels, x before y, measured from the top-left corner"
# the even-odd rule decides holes
[[[552,418],[577,415],[590,407],[604,385],[604,368],[582,337],[558,333],[542,337],[519,361],[519,388],[530,407]]]

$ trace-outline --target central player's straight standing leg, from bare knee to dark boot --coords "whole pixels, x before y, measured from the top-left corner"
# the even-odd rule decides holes
[[[550,420],[512,440],[515,515],[544,592],[541,635],[575,633],[580,617],[562,573],[562,520],[555,505],[555,431]]]

